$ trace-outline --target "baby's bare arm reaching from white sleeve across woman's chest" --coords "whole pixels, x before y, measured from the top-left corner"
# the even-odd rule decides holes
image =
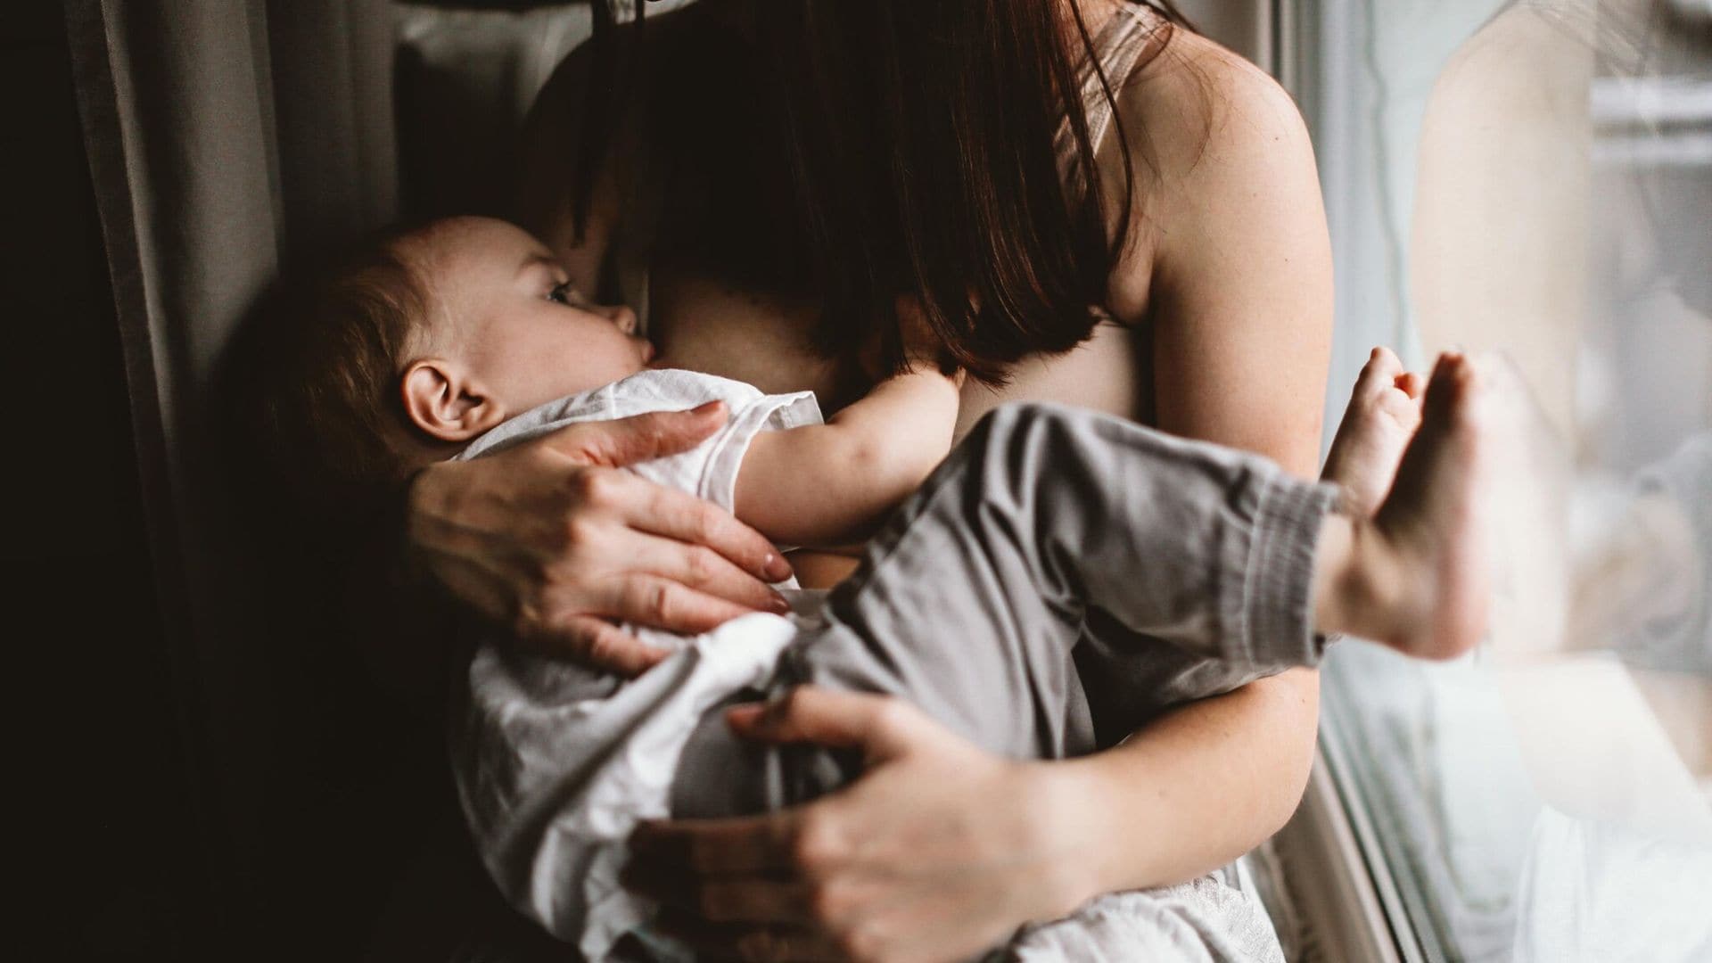
[[[861,541],[952,447],[957,379],[923,363],[825,425],[762,432],[738,471],[736,516],[781,545]]]

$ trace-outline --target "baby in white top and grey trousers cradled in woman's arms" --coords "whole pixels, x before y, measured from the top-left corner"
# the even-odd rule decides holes
[[[801,682],[889,692],[993,752],[1061,757],[1092,749],[1065,721],[1077,673],[1104,727],[1130,730],[1313,665],[1327,634],[1448,658],[1484,631],[1483,493],[1513,396],[1486,362],[1442,356],[1423,408],[1421,379],[1376,350],[1329,483],[1311,483],[1039,404],[1002,408],[947,459],[957,384],[928,362],[825,422],[808,392],[654,368],[628,308],[586,302],[502,221],[397,235],[318,291],[281,332],[270,408],[305,480],[383,490],[567,423],[719,401],[716,437],[635,471],[777,543],[873,535],[856,576],[794,615],[632,629],[676,651],[635,680],[478,649],[452,737],[466,816],[507,898],[589,960],[669,949],[618,884],[639,819],[753,812],[858,773],[738,744],[717,711],[734,701]]]

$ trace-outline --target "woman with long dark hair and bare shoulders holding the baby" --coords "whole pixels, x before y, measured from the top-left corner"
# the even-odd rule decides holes
[[[702,0],[574,53],[526,156],[526,226],[687,367],[835,406],[895,362],[907,300],[972,375],[964,428],[1049,398],[1315,468],[1332,295],[1306,132],[1270,79],[1149,7]],[[716,425],[579,428],[418,476],[411,552],[520,636],[632,672],[657,653],[608,619],[702,631],[767,605],[755,533],[613,471]],[[1207,874],[1289,817],[1311,673],[1169,709],[1096,682],[1087,749],[1128,739],[1034,764],[801,691],[745,732],[851,747],[866,775],[661,828],[639,884],[675,879],[654,889],[693,908],[687,936],[745,958],[957,958]]]

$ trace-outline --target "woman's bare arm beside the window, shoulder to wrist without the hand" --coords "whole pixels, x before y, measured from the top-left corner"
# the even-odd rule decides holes
[[[1147,284],[1159,427],[1311,476],[1332,254],[1306,127],[1270,77],[1204,38],[1180,33],[1150,72],[1123,108],[1132,135],[1149,125],[1159,171],[1142,180],[1152,264],[1120,274],[1115,302]],[[1097,891],[1181,881],[1275,833],[1306,785],[1317,720],[1318,679],[1296,670],[1065,766],[1087,787],[1079,817],[1116,833],[1097,850]]]

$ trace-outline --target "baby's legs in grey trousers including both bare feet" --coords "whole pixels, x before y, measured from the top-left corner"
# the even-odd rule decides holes
[[[1002,408],[875,538],[829,627],[788,653],[786,682],[909,697],[995,752],[1053,757],[1072,672],[1092,694],[1166,665],[1183,699],[1315,665],[1323,632],[1465,651],[1484,631],[1483,452],[1513,447],[1503,415],[1525,398],[1496,358],[1448,355],[1411,439],[1423,392],[1399,372],[1376,353],[1339,435],[1332,480],[1383,495],[1373,517],[1332,512],[1335,488],[1250,452]],[[1407,408],[1387,411],[1390,394]]]

